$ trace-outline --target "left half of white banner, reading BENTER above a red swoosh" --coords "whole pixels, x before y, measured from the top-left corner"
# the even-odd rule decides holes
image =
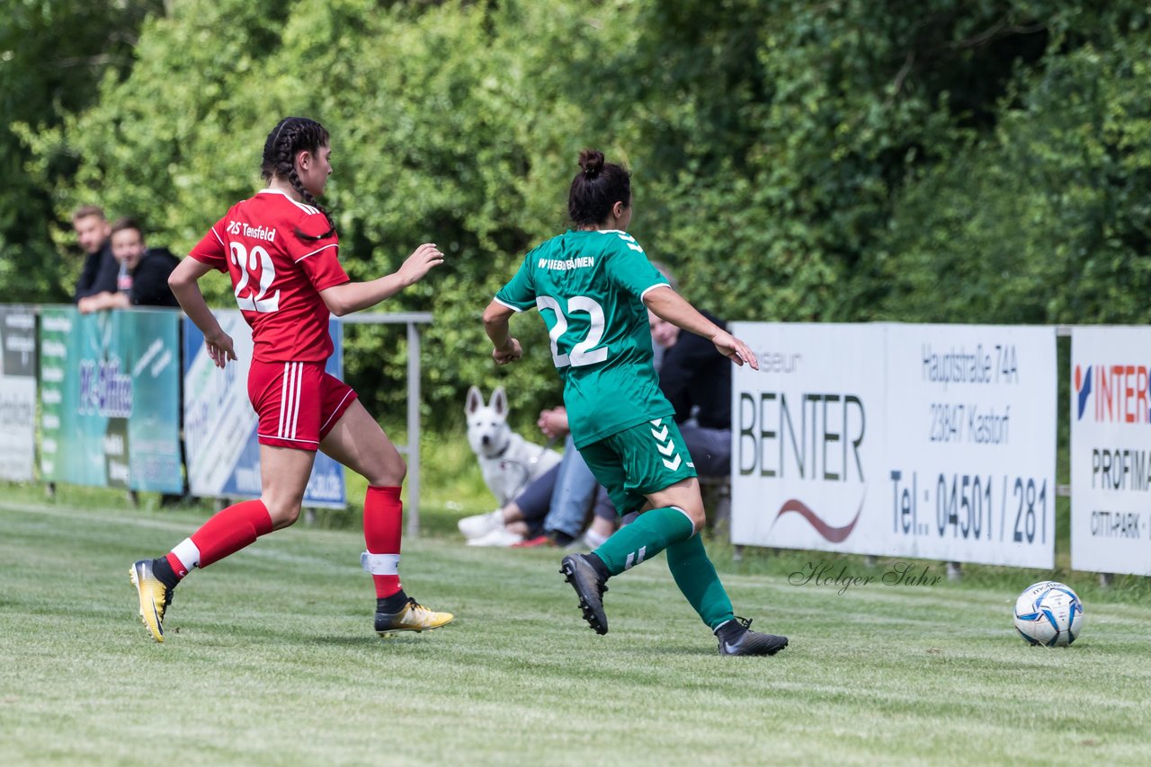
[[[732,323],[732,543],[879,553],[883,327]]]

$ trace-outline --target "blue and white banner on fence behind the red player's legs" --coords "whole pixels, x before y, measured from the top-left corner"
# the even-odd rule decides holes
[[[260,494],[260,445],[256,411],[247,398],[252,360],[252,331],[237,309],[214,312],[231,336],[237,360],[220,369],[204,347],[204,335],[184,320],[184,440],[188,481],[193,496],[256,498]],[[327,371],[342,375],[341,325],[329,321],[335,353]],[[305,506],[343,508],[346,505],[343,467],[317,452],[304,493]]]

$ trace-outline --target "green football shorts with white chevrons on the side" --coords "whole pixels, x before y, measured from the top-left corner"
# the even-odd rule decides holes
[[[695,463],[670,415],[617,431],[579,452],[620,516],[642,508],[647,493],[695,476]]]

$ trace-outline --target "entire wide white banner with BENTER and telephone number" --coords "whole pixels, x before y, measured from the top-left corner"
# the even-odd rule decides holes
[[[734,323],[732,542],[1054,563],[1051,328]]]

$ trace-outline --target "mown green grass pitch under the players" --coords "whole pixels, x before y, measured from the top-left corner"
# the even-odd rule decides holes
[[[456,622],[381,641],[359,532],[300,524],[189,577],[158,645],[128,568],[203,511],[3,494],[5,765],[1134,765],[1151,753],[1143,586],[1126,598],[1073,581],[1084,632],[1046,650],[1011,624],[1030,574],[877,577],[840,595],[788,573],[814,560],[882,576],[890,563],[732,562],[716,545],[737,614],[792,642],[725,659],[662,558],[612,581],[600,637],[559,553],[468,549],[441,531],[405,542],[404,586]]]

